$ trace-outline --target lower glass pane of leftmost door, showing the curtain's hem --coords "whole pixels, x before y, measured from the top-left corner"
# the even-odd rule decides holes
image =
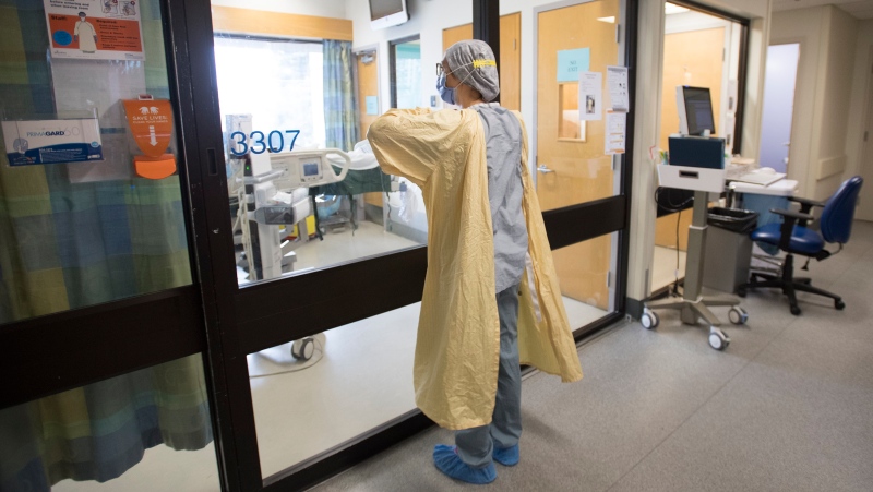
[[[2,409],[0,435],[3,491],[220,489],[200,355]]]

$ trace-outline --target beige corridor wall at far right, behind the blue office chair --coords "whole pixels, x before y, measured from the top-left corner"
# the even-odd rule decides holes
[[[803,196],[827,199],[847,170],[857,168],[849,163],[847,134],[858,24],[833,5],[773,15],[770,44],[800,43],[788,173],[800,181]]]

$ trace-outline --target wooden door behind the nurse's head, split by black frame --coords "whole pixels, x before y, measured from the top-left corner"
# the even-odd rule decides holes
[[[473,24],[443,29],[443,51],[473,39]],[[522,13],[500,17],[500,105],[522,110]]]

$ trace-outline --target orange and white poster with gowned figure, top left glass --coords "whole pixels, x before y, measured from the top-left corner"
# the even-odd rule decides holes
[[[137,0],[43,0],[51,57],[144,60]]]

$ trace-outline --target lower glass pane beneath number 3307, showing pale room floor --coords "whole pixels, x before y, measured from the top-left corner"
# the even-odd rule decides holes
[[[416,408],[412,358],[420,303],[314,337],[298,361],[290,345],[248,357],[264,478]]]

